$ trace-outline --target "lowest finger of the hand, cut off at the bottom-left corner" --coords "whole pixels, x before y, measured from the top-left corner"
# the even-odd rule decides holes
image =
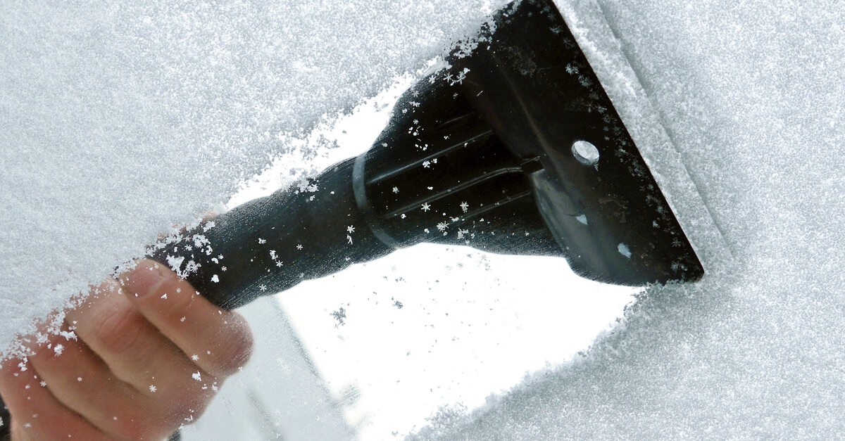
[[[0,367],[0,395],[12,414],[14,439],[110,439],[40,382],[29,362],[7,360]]]

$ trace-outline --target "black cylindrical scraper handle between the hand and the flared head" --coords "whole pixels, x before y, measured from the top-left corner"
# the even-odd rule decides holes
[[[323,172],[313,181],[316,191],[286,188],[203,221],[150,257],[227,309],[377,259],[392,248],[373,236],[357,209],[352,165],[347,160]]]

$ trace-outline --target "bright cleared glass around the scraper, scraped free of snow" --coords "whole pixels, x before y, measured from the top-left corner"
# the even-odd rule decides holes
[[[357,155],[411,81],[302,142],[330,146],[324,166]],[[270,193],[285,170],[277,161],[232,204]],[[405,438],[575,357],[635,291],[582,279],[560,258],[401,249],[243,308],[254,358],[183,436]]]

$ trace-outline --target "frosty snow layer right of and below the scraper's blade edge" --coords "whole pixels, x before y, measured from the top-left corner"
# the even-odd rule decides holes
[[[678,159],[693,182],[662,188],[700,192],[717,234],[684,227],[716,270],[652,287],[585,357],[418,437],[841,438],[845,9],[558,3],[610,24],[615,37],[586,36],[619,45],[655,107],[673,147],[652,159]]]

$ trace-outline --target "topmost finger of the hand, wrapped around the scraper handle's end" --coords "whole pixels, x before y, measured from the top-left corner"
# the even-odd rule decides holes
[[[164,265],[142,260],[120,280],[138,311],[205,372],[226,376],[248,361],[253,337],[243,317],[215,307]]]

